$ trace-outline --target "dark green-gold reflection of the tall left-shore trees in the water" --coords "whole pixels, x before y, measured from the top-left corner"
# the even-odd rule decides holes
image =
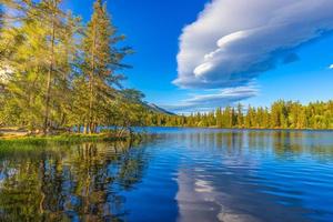
[[[141,181],[130,141],[11,148],[0,158],[0,221],[122,221],[121,191]]]

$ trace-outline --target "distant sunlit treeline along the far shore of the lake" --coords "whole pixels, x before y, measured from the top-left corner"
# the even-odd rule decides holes
[[[244,111],[245,110],[245,111]],[[148,125],[213,127],[248,129],[333,129],[333,101],[300,102],[276,101],[270,108],[218,108],[208,113],[191,115],[150,114]]]

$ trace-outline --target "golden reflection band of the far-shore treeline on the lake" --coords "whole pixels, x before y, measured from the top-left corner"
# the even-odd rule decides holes
[[[189,148],[222,152],[274,152],[276,155],[333,157],[333,131],[159,129],[155,137],[178,140]]]

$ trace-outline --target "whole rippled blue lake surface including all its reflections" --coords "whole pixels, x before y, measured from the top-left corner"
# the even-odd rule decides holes
[[[333,132],[150,128],[0,150],[0,221],[333,221]]]

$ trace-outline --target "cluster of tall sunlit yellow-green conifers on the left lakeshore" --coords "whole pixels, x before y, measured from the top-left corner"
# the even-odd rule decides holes
[[[0,127],[49,133],[140,124],[143,94],[124,89],[123,46],[107,4],[84,23],[62,0],[0,0]]]

